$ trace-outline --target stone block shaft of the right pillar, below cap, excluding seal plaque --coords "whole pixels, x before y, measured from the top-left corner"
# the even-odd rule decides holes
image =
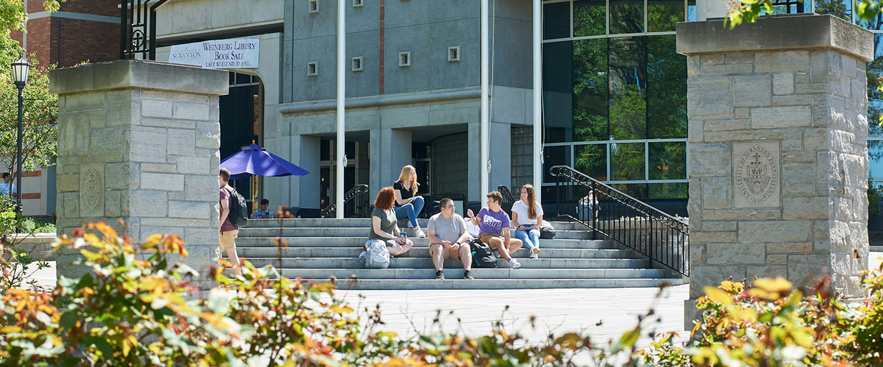
[[[691,283],[781,275],[808,285],[838,266],[834,290],[857,294],[868,251],[864,62],[827,49],[732,52],[691,56],[688,75]],[[740,206],[734,145],[757,142],[779,151],[781,198]]]

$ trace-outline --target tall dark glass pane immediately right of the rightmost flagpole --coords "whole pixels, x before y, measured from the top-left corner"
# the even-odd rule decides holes
[[[571,41],[543,45],[543,113],[546,142],[573,141]]]

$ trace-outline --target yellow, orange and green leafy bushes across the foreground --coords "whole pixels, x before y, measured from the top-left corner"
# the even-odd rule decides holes
[[[100,237],[101,236],[101,237]],[[283,278],[245,263],[242,276],[213,270],[200,295],[197,274],[169,258],[186,256],[174,235],[136,246],[105,223],[63,236],[91,268],[58,281],[51,294],[9,289],[0,296],[0,365],[195,366],[731,366],[881,365],[883,273],[862,278],[869,296],[844,304],[820,291],[804,296],[782,279],[724,281],[698,300],[705,312],[688,346],[662,333],[636,348],[645,320],[601,346],[580,333],[528,343],[501,324],[476,338],[430,333],[401,338],[375,331],[380,311],[360,323],[330,283]]]

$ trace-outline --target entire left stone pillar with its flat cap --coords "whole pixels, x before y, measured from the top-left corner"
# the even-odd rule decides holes
[[[50,71],[49,82],[59,105],[58,233],[90,221],[107,221],[133,243],[173,233],[190,252],[183,262],[208,270],[218,245],[218,96],[227,94],[227,71],[124,60]],[[58,276],[84,273],[70,265],[76,256],[57,255]]]

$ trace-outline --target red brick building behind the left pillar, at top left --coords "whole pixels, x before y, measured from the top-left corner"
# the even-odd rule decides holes
[[[40,64],[72,66],[119,58],[119,0],[67,0],[49,13],[42,4],[26,1],[27,34],[13,32]]]

